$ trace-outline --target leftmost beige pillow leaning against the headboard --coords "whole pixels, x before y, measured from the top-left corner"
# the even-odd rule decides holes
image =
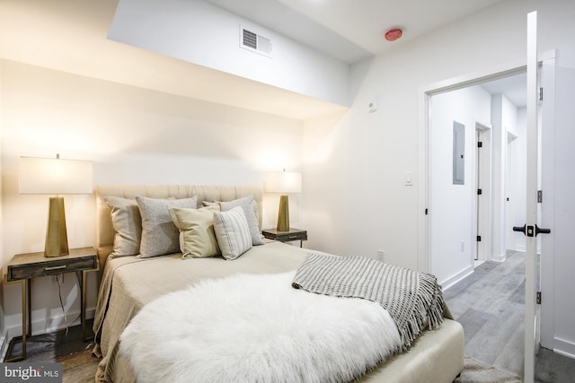
[[[142,239],[142,218],[136,200],[108,196],[104,201],[111,208],[111,224],[116,231],[110,257],[137,256]]]

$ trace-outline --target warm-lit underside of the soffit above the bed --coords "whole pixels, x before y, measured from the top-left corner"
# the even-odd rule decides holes
[[[2,0],[0,57],[288,118],[344,110],[107,39],[118,0]]]

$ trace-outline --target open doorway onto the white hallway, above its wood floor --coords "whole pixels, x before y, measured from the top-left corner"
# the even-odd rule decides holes
[[[506,231],[513,226],[504,203],[507,136],[524,130],[517,125],[525,108],[525,79],[525,69],[516,68],[427,93],[427,261],[444,287],[473,273],[475,260],[505,260]],[[452,124],[466,132],[460,154],[464,176],[457,182],[451,178],[456,174]]]

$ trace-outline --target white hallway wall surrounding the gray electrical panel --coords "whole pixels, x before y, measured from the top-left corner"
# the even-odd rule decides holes
[[[481,86],[449,91],[429,101],[430,268],[450,284],[473,271],[475,215],[475,123],[489,125],[491,95]],[[464,185],[453,184],[453,123],[465,126]]]

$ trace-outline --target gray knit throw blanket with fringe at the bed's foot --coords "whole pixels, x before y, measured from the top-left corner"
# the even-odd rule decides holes
[[[406,350],[422,331],[443,322],[443,294],[434,275],[372,258],[310,253],[292,286],[381,304],[394,318],[402,337],[403,347],[397,352]]]

